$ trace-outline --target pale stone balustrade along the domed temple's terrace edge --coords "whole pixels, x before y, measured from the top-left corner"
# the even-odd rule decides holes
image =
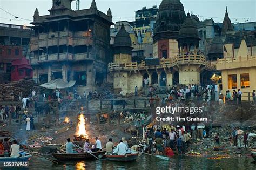
[[[180,55],[173,58],[160,59],[160,66],[161,65],[174,66],[178,64],[187,64],[187,63],[198,63],[198,64],[204,64],[204,65],[208,64],[208,62],[206,62],[205,56],[203,55]],[[142,61],[141,64],[138,64],[137,62],[109,63],[109,69],[114,69],[118,67],[124,67],[126,69],[130,69],[130,68],[144,67],[144,66],[146,66],[145,61]]]

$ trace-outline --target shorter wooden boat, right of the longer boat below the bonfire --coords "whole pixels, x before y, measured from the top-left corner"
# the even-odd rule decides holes
[[[138,158],[139,153],[128,153],[125,155],[106,155],[106,159],[110,161],[118,162],[130,162],[135,161]]]

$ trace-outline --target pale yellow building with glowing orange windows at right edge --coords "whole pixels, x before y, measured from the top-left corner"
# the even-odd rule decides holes
[[[224,56],[216,64],[222,75],[223,93],[241,89],[242,100],[248,100],[248,97],[252,100],[252,91],[256,90],[256,55],[250,55],[245,40],[242,40],[234,58],[228,56],[227,52]]]

